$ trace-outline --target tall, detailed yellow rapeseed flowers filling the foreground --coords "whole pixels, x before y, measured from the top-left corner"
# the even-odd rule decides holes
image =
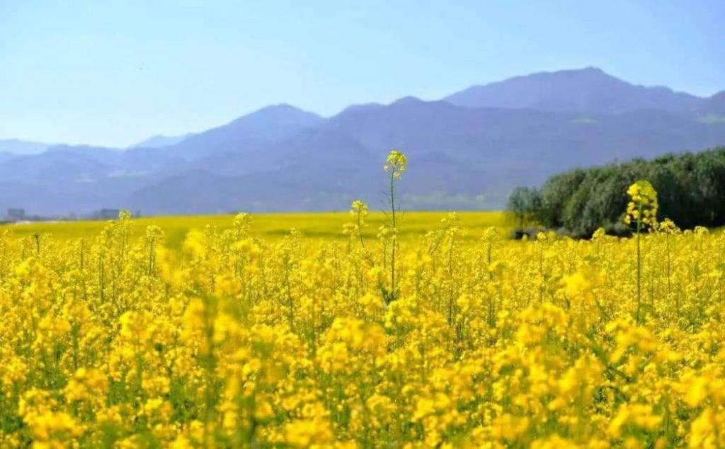
[[[0,230],[0,447],[724,447],[725,235],[650,187],[631,239]]]

